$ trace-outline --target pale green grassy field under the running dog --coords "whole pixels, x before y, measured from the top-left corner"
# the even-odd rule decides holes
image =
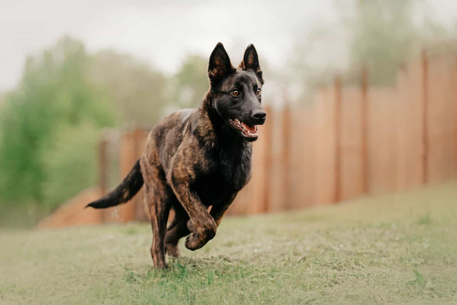
[[[0,232],[0,304],[457,304],[457,183],[226,218],[170,269],[148,224]]]

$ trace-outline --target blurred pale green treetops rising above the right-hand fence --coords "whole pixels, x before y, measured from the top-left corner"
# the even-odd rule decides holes
[[[344,72],[359,81],[368,68],[374,85],[395,83],[399,65],[420,47],[449,39],[449,31],[434,21],[425,1],[335,1],[336,21],[314,25],[295,46],[291,71],[300,79],[301,99],[312,99],[314,89]]]

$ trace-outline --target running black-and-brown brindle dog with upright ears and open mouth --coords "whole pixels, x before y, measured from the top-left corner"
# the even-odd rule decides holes
[[[145,186],[151,219],[151,256],[167,268],[165,253],[178,257],[178,241],[197,250],[216,235],[224,213],[252,175],[252,142],[266,120],[264,80],[255,47],[234,68],[222,43],[209,58],[210,88],[197,109],[167,116],[150,131],[145,151],[116,189],[87,206],[107,208],[130,200]],[[208,212],[208,208],[211,210]],[[167,228],[170,209],[175,217]]]

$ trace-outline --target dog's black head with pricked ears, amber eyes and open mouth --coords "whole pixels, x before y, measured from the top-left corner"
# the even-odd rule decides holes
[[[261,106],[262,70],[255,47],[249,45],[243,61],[234,68],[219,42],[209,58],[208,77],[212,107],[223,119],[223,124],[244,140],[255,141],[259,136],[257,125],[265,123],[266,118]]]

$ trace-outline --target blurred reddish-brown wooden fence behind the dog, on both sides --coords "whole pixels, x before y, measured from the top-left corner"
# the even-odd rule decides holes
[[[457,172],[457,55],[431,55],[399,68],[395,87],[357,85],[341,77],[296,109],[266,107],[254,142],[253,176],[229,215],[338,203],[360,195],[439,183]],[[100,191],[118,183],[143,152],[147,131],[100,145]],[[109,147],[117,147],[109,153]],[[111,155],[111,163],[108,157]],[[108,183],[118,158],[119,176]],[[111,208],[105,221],[144,220],[143,195]]]

